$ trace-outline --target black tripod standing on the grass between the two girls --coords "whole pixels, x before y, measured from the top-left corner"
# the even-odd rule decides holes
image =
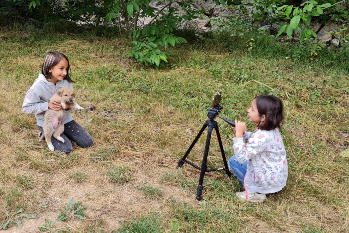
[[[222,144],[222,140],[221,140],[221,135],[219,134],[219,130],[218,130],[218,123],[217,121],[213,120],[216,116],[218,116],[218,113],[223,109],[223,107],[221,107],[220,105],[215,105],[214,108],[210,107],[210,110],[208,111],[207,117],[209,118],[208,120],[205,121],[205,123],[203,124],[202,128],[200,129],[199,133],[196,135],[194,141],[191,143],[191,145],[189,146],[188,150],[185,152],[184,156],[179,159],[178,161],[178,166],[177,167],[181,167],[183,166],[184,163],[190,164],[191,166],[195,167],[196,169],[200,170],[200,179],[199,179],[199,185],[197,186],[197,193],[196,193],[196,200],[200,201],[201,200],[201,193],[202,193],[202,189],[203,189],[203,178],[205,175],[205,172],[211,172],[211,171],[225,171],[225,173],[230,177],[231,173],[229,171],[228,168],[228,163],[227,163],[227,159],[225,157],[224,154],[224,149],[223,149],[223,144]],[[218,116],[219,118],[222,118],[220,116]],[[224,119],[224,118],[222,118]],[[226,122],[228,122],[230,125],[235,126],[235,123],[224,119]],[[202,159],[202,164],[201,164],[201,168],[196,166],[195,164],[193,164],[192,162],[186,161],[186,157],[188,156],[188,154],[190,153],[191,149],[194,147],[195,143],[197,142],[197,140],[199,139],[199,137],[201,136],[202,132],[205,130],[205,128],[208,126],[208,133],[207,133],[207,137],[206,137],[206,144],[205,144],[205,151],[204,151],[204,156]],[[208,150],[210,147],[210,141],[211,141],[211,135],[212,135],[212,131],[213,128],[216,130],[216,135],[218,138],[218,143],[219,143],[219,148],[221,150],[222,153],[222,158],[223,158],[223,162],[224,162],[224,168],[215,168],[215,169],[207,169],[207,156],[208,156]]]

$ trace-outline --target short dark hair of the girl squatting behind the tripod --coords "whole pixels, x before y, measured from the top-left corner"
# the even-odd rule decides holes
[[[259,127],[263,130],[281,128],[284,119],[282,101],[271,95],[261,95],[256,97],[255,100],[260,117],[265,116]]]

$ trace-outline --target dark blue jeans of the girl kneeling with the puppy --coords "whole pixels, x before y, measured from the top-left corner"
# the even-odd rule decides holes
[[[42,127],[39,126],[39,130],[41,132],[41,135],[43,132]],[[61,151],[66,154],[70,154],[73,151],[73,145],[70,142],[69,138],[75,141],[78,146],[82,148],[88,148],[93,144],[92,137],[75,120],[64,124],[64,132],[61,134],[61,137],[63,137],[64,143],[60,142],[54,137],[52,137],[51,142],[56,151]]]

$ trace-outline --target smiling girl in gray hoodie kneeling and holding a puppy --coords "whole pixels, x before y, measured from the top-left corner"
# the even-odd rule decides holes
[[[50,98],[62,87],[69,87],[73,89],[69,74],[70,64],[68,58],[56,51],[51,51],[46,54],[44,63],[42,65],[41,74],[34,81],[31,88],[27,91],[23,105],[22,112],[26,114],[35,114],[36,123],[39,126],[40,134],[43,133],[44,115],[45,111],[52,109],[55,111],[63,110],[59,101],[50,102]],[[64,143],[52,137],[52,144],[55,150],[64,153],[71,153],[73,146],[70,140],[74,140],[80,147],[87,148],[93,144],[93,139],[88,132],[80,126],[69,114],[69,104],[66,104],[66,117],[63,119],[64,133],[61,137]]]

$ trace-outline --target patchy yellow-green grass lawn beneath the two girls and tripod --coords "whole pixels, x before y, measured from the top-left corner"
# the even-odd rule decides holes
[[[264,44],[255,38],[252,52],[244,38],[235,37],[235,49],[217,40],[176,48],[170,64],[154,70],[122,57],[128,49],[122,38],[1,28],[0,222],[22,207],[37,217],[10,230],[35,232],[49,219],[52,231],[71,232],[346,232],[349,160],[339,154],[349,144],[341,136],[349,132],[349,77],[343,64],[324,65],[331,55],[325,52],[313,61],[306,54],[303,60],[272,56],[277,50],[264,37]],[[69,57],[77,100],[91,110],[72,115],[94,145],[74,145],[70,156],[39,143],[35,117],[21,113],[49,50]],[[234,193],[243,187],[223,172],[205,176],[197,202],[198,171],[176,168],[218,91],[228,119],[247,121],[259,94],[283,100],[289,179],[262,204],[238,202]],[[217,121],[232,156],[234,130]],[[206,132],[188,156],[196,164],[205,138]],[[214,134],[208,164],[223,164]],[[87,206],[86,219],[57,222],[72,198]]]

